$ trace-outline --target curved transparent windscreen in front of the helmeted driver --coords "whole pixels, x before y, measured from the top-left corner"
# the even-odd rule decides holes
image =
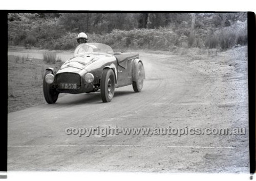
[[[91,53],[103,53],[113,55],[113,49],[102,43],[82,43],[75,49],[74,56]]]

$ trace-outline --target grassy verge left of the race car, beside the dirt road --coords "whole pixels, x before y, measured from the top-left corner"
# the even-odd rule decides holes
[[[8,113],[44,104],[42,80],[45,68],[58,69],[62,63],[8,56]]]

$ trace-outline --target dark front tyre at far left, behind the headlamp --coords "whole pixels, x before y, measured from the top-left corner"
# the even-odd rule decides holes
[[[52,71],[47,70],[46,73],[45,73],[45,76],[48,73],[52,73]],[[45,76],[44,76],[44,83],[42,85],[42,88],[43,88],[43,91],[44,91],[44,96],[45,96],[46,102],[48,104],[54,104],[58,99],[59,92],[57,92],[56,89],[53,88],[52,84],[46,83]]]

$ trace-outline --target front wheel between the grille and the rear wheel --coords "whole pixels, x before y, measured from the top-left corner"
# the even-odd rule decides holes
[[[115,93],[115,74],[112,69],[103,70],[100,81],[100,94],[103,102],[110,102]]]

